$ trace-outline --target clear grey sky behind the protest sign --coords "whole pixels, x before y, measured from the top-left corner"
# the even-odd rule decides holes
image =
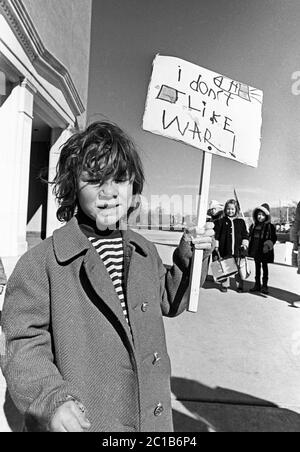
[[[299,0],[94,0],[88,122],[110,119],[137,144],[145,197],[193,197],[202,151],[142,129],[152,61],[175,56],[263,90],[257,168],[213,156],[209,199],[243,210],[300,199]],[[193,201],[194,202],[194,201]]]

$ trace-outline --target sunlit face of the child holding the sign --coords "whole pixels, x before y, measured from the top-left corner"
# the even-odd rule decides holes
[[[98,229],[115,226],[131,206],[132,183],[110,179],[99,185],[90,182],[87,173],[82,173],[78,181],[78,202],[83,212],[96,221]]]

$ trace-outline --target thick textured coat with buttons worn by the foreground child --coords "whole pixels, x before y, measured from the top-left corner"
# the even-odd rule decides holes
[[[186,309],[189,259],[177,249],[166,269],[141,235],[127,230],[123,239],[131,331],[75,217],[22,256],[9,279],[1,366],[28,431],[46,431],[69,396],[85,406],[90,431],[173,429],[162,315]]]

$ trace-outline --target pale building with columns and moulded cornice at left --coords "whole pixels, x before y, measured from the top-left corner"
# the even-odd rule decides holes
[[[0,0],[0,256],[59,225],[60,146],[85,124],[92,0]]]

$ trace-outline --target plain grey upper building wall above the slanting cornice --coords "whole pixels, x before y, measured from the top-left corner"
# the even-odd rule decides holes
[[[92,0],[23,0],[44,46],[70,72],[86,106]]]

